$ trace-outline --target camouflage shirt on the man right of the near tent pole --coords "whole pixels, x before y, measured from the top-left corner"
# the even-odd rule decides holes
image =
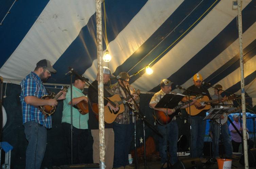
[[[135,93],[134,87],[130,86],[130,93],[133,94]],[[118,94],[120,95],[121,99],[124,99],[126,97],[130,97],[127,91],[123,90],[123,88],[120,86],[120,84],[117,82],[111,87],[111,92],[113,94]],[[139,103],[139,97],[135,100],[136,103]],[[133,102],[133,101],[131,101]],[[134,107],[132,107],[134,108]],[[115,120],[116,123],[118,124],[130,124],[130,112],[132,112],[131,108],[129,105],[124,104],[124,112],[119,114]]]

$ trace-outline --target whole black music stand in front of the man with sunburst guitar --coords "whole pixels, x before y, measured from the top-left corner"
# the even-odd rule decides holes
[[[168,134],[168,128],[167,128],[167,111],[168,108],[174,108],[176,105],[178,105],[178,103],[181,101],[181,99],[184,96],[182,95],[177,95],[177,94],[166,94],[163,98],[161,98],[161,100],[155,105],[155,108],[166,108],[166,162],[167,163],[167,168],[169,169],[169,160],[168,160],[168,140],[167,140],[167,134]],[[161,166],[161,168],[163,168],[163,166],[165,165],[165,163]]]

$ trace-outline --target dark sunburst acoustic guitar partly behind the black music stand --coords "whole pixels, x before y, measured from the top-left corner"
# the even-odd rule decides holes
[[[202,98],[203,95],[199,94],[197,96],[195,96],[193,99],[200,99]],[[158,110],[154,110],[153,112],[153,116],[154,118],[156,119],[156,121],[160,124],[160,125],[166,125],[166,124],[169,124],[173,117],[174,116],[180,116],[181,115],[181,111],[180,111],[180,108],[183,107],[184,105],[187,105],[188,103],[191,103],[193,102],[193,99],[187,101],[187,102],[184,102],[182,104],[179,104],[177,106],[175,106],[173,109],[174,109],[174,113],[171,114],[171,115],[168,115],[166,116],[166,112],[162,112],[162,111],[158,111]]]

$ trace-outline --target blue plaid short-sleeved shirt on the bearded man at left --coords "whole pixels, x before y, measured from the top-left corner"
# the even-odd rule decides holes
[[[48,94],[40,77],[34,72],[31,72],[20,82],[20,86],[20,102],[22,105],[23,124],[29,121],[35,121],[46,128],[51,128],[52,117],[47,116],[45,119],[44,114],[42,114],[37,106],[27,104],[24,100],[26,96],[35,96],[37,98],[41,98],[42,96]]]

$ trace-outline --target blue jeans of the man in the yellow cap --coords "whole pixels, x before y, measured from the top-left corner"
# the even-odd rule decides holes
[[[192,157],[202,157],[204,148],[204,136],[206,120],[204,116],[190,116],[191,117],[191,131],[192,131]]]

